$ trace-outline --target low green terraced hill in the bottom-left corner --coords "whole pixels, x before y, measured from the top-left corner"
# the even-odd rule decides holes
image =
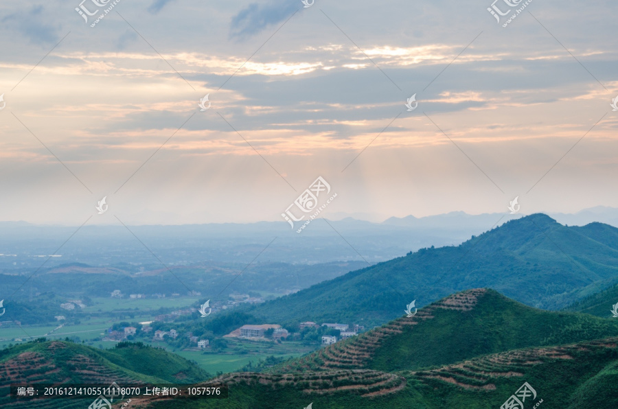
[[[12,402],[12,383],[184,384],[203,382],[211,375],[196,364],[162,349],[122,342],[99,350],[82,344],[36,340],[0,351],[0,407],[84,408],[82,399]]]

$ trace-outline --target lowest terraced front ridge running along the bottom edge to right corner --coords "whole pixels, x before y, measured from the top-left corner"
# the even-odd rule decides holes
[[[525,409],[618,407],[618,338],[518,349],[422,371],[232,373],[229,399],[144,399],[148,408],[500,408],[519,393]],[[533,392],[534,390],[534,392]],[[525,392],[526,392],[525,391]],[[520,406],[507,406],[518,409]]]

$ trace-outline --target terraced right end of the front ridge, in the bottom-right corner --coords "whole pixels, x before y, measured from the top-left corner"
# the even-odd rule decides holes
[[[520,384],[528,382],[538,397],[548,401],[544,407],[609,409],[618,408],[617,369],[618,338],[606,338],[486,355],[429,371],[400,374],[412,384],[419,382],[433,390],[496,391],[503,400],[510,390],[514,393]]]

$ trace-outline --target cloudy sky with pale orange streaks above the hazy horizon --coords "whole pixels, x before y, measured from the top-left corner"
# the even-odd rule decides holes
[[[3,2],[0,220],[618,207],[618,3],[493,5]]]

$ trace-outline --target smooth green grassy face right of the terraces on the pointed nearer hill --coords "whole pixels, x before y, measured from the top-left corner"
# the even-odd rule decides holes
[[[618,336],[618,319],[543,311],[493,290],[481,296],[472,311],[435,309],[432,314],[435,318],[386,338],[368,368],[413,370],[510,349]]]

